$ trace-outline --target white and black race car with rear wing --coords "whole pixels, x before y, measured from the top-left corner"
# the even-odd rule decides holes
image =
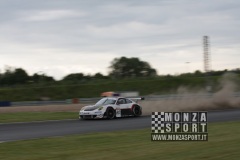
[[[141,116],[142,107],[137,103],[138,100],[144,100],[144,98],[105,97],[95,105],[83,107],[79,111],[79,119]]]

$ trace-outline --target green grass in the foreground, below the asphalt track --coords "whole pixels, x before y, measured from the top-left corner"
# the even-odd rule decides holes
[[[8,142],[0,144],[0,159],[238,160],[239,126],[239,121],[210,123],[208,142],[151,142],[150,128]]]

